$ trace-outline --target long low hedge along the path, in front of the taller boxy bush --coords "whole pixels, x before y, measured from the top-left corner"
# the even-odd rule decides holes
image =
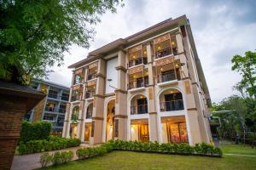
[[[20,143],[18,148],[19,154],[31,154],[49,150],[61,150],[74,146],[79,146],[81,141],[79,139],[64,139],[61,137],[49,136],[48,139],[31,140],[26,143]]]

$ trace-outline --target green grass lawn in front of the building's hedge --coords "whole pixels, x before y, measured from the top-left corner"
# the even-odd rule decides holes
[[[249,146],[227,144],[221,146],[224,153],[256,155],[256,149]],[[47,169],[181,169],[181,170],[247,170],[256,169],[256,156],[225,156],[224,158],[204,156],[174,156],[132,151],[113,151],[105,156],[89,160],[71,161],[66,165]]]

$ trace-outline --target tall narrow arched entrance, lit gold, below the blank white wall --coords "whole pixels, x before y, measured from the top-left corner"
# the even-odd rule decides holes
[[[107,106],[107,123],[106,123],[106,141],[113,139],[113,128],[114,128],[114,109],[115,100],[112,99],[108,102]]]

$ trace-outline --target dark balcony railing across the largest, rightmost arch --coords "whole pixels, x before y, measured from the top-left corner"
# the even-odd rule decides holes
[[[165,101],[160,103],[160,111],[180,111],[184,110],[183,99]]]

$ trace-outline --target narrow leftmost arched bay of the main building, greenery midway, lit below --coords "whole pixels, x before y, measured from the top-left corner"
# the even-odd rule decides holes
[[[78,137],[78,121],[79,121],[79,106],[75,106],[72,110],[69,136],[72,139]]]

